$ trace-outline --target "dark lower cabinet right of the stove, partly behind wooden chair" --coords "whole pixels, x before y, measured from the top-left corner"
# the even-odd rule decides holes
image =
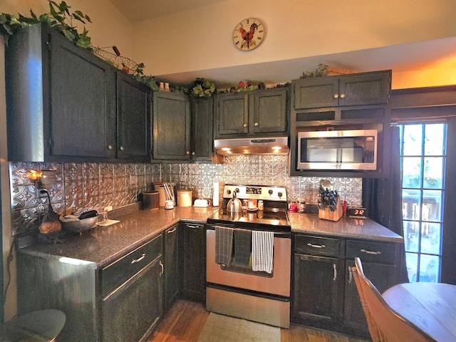
[[[369,331],[351,275],[354,258],[378,291],[398,283],[398,244],[294,235],[291,322],[368,338]]]

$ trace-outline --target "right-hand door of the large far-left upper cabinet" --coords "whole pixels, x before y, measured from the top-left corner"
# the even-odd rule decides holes
[[[121,159],[150,160],[150,88],[118,72],[118,151]]]

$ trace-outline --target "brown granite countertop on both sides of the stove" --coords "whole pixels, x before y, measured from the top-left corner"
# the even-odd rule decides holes
[[[95,227],[56,244],[33,244],[20,253],[78,263],[92,269],[110,264],[135,247],[149,241],[178,222],[204,223],[219,207],[175,207],[174,209],[135,210],[111,219],[120,222]],[[341,217],[337,222],[318,219],[318,214],[289,212],[291,232],[334,237],[402,242],[403,238],[372,219]]]

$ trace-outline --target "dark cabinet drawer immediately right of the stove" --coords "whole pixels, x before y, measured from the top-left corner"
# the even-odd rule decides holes
[[[294,237],[294,250],[297,253],[338,256],[338,239],[331,237],[312,237],[296,235]]]

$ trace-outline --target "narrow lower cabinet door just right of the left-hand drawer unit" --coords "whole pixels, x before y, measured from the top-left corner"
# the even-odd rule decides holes
[[[165,310],[169,310],[179,294],[178,224],[165,231]]]

